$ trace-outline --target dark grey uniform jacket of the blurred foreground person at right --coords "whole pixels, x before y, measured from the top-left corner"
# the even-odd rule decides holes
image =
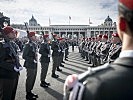
[[[133,99],[133,58],[118,58],[109,66],[84,78],[82,100]]]

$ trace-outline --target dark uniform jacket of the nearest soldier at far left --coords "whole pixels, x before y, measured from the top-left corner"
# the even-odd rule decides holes
[[[13,50],[17,55],[17,46],[14,42],[10,43],[13,47]],[[6,42],[0,43],[0,78],[14,79],[18,77],[19,73],[14,70],[15,66],[15,57],[11,53],[10,47]]]

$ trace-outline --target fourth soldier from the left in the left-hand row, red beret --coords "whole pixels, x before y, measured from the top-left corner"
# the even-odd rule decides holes
[[[53,68],[52,68],[52,77],[53,78],[58,78],[59,76],[55,74],[55,71],[57,67],[59,66],[59,53],[61,52],[61,49],[59,47],[59,42],[57,40],[57,35],[53,34],[54,41],[52,41],[51,44],[51,49],[53,50],[52,52],[52,59],[53,59]]]

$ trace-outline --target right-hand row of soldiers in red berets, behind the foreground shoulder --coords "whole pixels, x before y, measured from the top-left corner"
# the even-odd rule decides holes
[[[109,40],[107,35],[83,39],[79,45],[79,52],[82,58],[92,64],[91,67],[99,66],[104,63],[113,62],[121,51],[121,41],[117,33],[112,34]]]

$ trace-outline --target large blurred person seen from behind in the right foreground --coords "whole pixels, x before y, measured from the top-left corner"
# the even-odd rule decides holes
[[[133,0],[119,0],[118,3],[117,29],[122,40],[122,51],[119,58],[112,64],[99,66],[97,70],[96,68],[90,69],[89,74],[86,73],[85,76],[82,74],[80,82],[79,76],[69,76],[64,88],[66,91],[71,90],[69,100],[132,100]],[[93,74],[90,75],[91,73]]]

